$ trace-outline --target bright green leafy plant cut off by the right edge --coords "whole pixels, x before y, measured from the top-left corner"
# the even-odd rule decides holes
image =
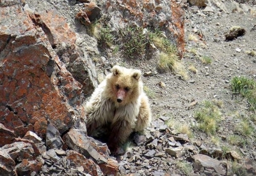
[[[256,111],[256,82],[246,77],[234,77],[231,80],[233,94],[246,98],[250,109]]]

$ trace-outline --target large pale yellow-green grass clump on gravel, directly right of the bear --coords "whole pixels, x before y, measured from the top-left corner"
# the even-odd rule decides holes
[[[199,129],[208,135],[214,135],[221,121],[221,112],[211,101],[204,101],[202,108],[195,112],[195,119],[199,122]]]

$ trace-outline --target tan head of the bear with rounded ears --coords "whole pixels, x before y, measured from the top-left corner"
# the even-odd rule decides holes
[[[136,101],[143,89],[141,71],[113,66],[107,80],[107,89],[108,96],[117,105],[127,105]]]

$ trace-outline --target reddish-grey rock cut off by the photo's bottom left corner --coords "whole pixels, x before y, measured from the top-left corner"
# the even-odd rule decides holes
[[[17,175],[15,162],[5,150],[0,150],[0,173],[1,175]]]

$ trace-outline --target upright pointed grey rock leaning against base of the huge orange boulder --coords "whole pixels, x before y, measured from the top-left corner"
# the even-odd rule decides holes
[[[61,139],[60,132],[52,124],[48,124],[46,131],[46,146],[49,149],[61,149],[63,140]]]

